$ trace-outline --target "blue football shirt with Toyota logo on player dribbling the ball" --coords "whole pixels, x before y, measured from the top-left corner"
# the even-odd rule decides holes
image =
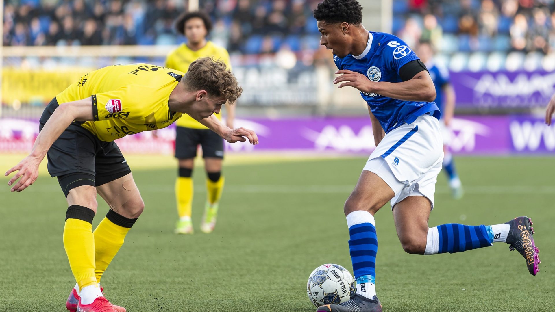
[[[364,74],[372,81],[402,82],[399,70],[403,65],[418,59],[405,42],[388,33],[369,32],[366,49],[360,56],[349,54],[344,58],[334,56],[339,69]],[[372,114],[379,120],[386,133],[405,123],[413,123],[426,113],[440,118],[440,109],[434,102],[414,102],[384,97],[376,93],[361,92]]]

